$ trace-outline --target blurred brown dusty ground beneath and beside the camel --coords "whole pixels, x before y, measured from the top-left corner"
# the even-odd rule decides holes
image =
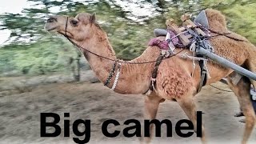
[[[3,83],[1,83],[3,85]],[[229,90],[222,83],[216,83]],[[244,124],[234,118],[238,112],[238,101],[233,93],[222,92],[205,86],[196,97],[198,110],[202,110],[209,143],[239,143],[242,139]],[[53,83],[39,85],[23,91],[22,94],[0,94],[0,143],[74,143],[70,138],[40,138],[40,113],[53,112],[61,115],[70,113],[70,122],[75,119],[91,120],[90,143],[138,143],[138,138],[106,138],[101,125],[108,118],[122,123],[126,119],[142,120],[143,96],[121,95],[106,89],[102,83]],[[163,102],[158,111],[158,119],[170,119],[175,124],[186,118],[176,102]],[[61,122],[63,125],[63,122]],[[63,127],[63,126],[62,126]],[[72,126],[70,126],[70,129]],[[174,128],[174,126],[173,126]],[[120,129],[120,127],[119,127]],[[110,130],[114,130],[111,127]],[[70,130],[72,132],[72,129]],[[166,138],[166,127],[162,126],[162,138],[154,138],[154,143],[199,143],[195,134],[190,138],[179,138],[173,131],[172,138]],[[256,142],[256,130],[250,143]]]

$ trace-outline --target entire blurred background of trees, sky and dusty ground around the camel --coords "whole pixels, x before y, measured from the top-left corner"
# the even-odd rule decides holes
[[[70,138],[40,138],[40,113],[70,113],[91,120],[92,143],[138,143],[138,138],[106,138],[101,124],[108,118],[124,122],[143,118],[143,96],[110,91],[90,70],[85,58],[61,35],[43,30],[50,15],[95,13],[118,58],[142,54],[155,28],[166,28],[166,18],[181,24],[182,14],[195,17],[213,8],[226,15],[228,28],[256,44],[256,1],[252,0],[5,0],[0,3],[0,143],[74,143]],[[228,86],[214,86],[229,90]],[[197,95],[210,143],[240,143],[244,124],[234,118],[239,111],[232,92],[205,86]],[[176,123],[186,118],[176,102],[161,104],[158,119]],[[63,122],[60,122],[63,126]],[[62,127],[63,128],[63,127]],[[122,128],[122,127],[121,127]],[[116,130],[111,127],[110,130]],[[118,128],[119,130],[119,128]],[[174,129],[173,129],[174,130]],[[196,136],[162,138],[155,143],[199,143]],[[82,136],[83,137],[83,136]],[[256,142],[256,130],[251,135]]]

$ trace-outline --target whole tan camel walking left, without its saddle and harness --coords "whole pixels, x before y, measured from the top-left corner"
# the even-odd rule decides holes
[[[226,28],[226,18],[218,10],[206,10],[206,16],[209,21],[210,30],[219,33],[228,32]],[[78,49],[84,54],[86,60],[90,63],[91,69],[101,82],[106,82],[112,66],[114,64],[110,59],[118,60],[115,57],[114,50],[110,45],[106,32],[98,25],[95,14],[82,13],[75,18],[67,16],[53,16],[46,22],[45,29],[54,31],[59,34],[66,35],[72,42],[78,45]],[[222,56],[243,66],[247,70],[256,72],[256,48],[246,38],[241,35],[231,33],[229,37],[242,39],[235,41],[223,35],[210,38],[210,43],[214,47],[215,54]],[[164,37],[159,37],[164,39]],[[88,52],[90,50],[94,54]],[[178,53],[180,49],[176,49]],[[183,50],[191,54],[189,50]],[[105,58],[98,57],[101,55]],[[148,46],[146,50],[138,58],[134,58],[129,62],[150,62],[156,60],[160,54],[158,46]],[[106,59],[108,58],[108,59]],[[150,86],[150,78],[154,70],[155,62],[143,64],[130,64],[118,61],[121,64],[118,83],[114,91],[119,94],[144,94]],[[254,81],[246,77],[242,77],[238,83],[233,82],[232,78],[237,75],[234,70],[218,65],[216,62],[207,62],[210,77],[207,79],[206,85],[227,78],[230,89],[238,97],[238,102],[246,116],[246,126],[242,138],[242,143],[246,143],[250,138],[250,134],[254,129],[256,117],[252,104],[250,102],[250,84],[256,86]],[[149,95],[144,95],[146,119],[156,118],[158,106],[165,100],[174,100],[178,102],[187,117],[194,124],[196,131],[196,106],[194,96],[197,94],[200,82],[200,68],[197,66],[191,76],[193,63],[190,59],[184,59],[178,56],[167,58],[162,61],[158,67],[156,85],[154,91]],[[110,80],[108,87],[114,84],[114,78]],[[152,126],[150,126],[152,131]],[[150,138],[144,138],[143,142],[150,142]],[[202,126],[202,142],[206,142],[204,128]]]

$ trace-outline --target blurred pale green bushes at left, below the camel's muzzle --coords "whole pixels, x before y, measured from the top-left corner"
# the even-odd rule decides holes
[[[75,50],[60,38],[30,45],[4,46],[1,51],[0,72],[18,70],[22,74],[46,74],[62,71],[75,55]]]

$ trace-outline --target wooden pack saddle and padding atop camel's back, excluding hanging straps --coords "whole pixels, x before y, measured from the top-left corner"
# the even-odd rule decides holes
[[[205,10],[202,10],[194,22],[190,20],[189,14],[183,14],[181,17],[182,26],[177,26],[174,19],[170,18],[166,20],[167,30],[155,29],[154,35],[165,36],[166,41],[169,42],[158,42],[156,38],[151,39],[149,42],[150,46],[159,46],[160,49],[166,50],[167,43],[172,43],[175,47],[188,47],[190,43],[194,40],[195,35],[200,35],[202,37],[210,36],[209,23],[206,17]],[[168,40],[169,39],[169,40]]]

